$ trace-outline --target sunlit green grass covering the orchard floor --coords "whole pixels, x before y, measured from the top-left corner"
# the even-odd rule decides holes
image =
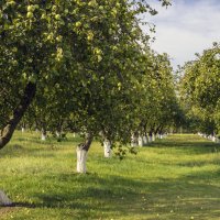
[[[79,175],[78,142],[16,132],[0,151],[0,189],[15,202],[0,208],[0,219],[220,219],[220,145],[176,134],[119,161],[103,158],[95,142],[89,173]]]

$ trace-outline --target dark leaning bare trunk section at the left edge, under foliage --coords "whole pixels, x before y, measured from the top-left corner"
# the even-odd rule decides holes
[[[19,106],[13,110],[12,117],[1,131],[0,148],[3,148],[11,140],[18,123],[21,121],[23,114],[31,105],[35,96],[35,92],[36,92],[36,85],[29,82],[24,89],[24,94],[20,100]]]

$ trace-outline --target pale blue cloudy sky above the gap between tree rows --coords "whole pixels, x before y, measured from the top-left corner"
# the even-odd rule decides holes
[[[195,59],[195,53],[200,54],[213,42],[220,42],[220,0],[170,0],[167,9],[157,0],[150,2],[158,11],[145,18],[156,25],[152,48],[167,53],[174,69]]]

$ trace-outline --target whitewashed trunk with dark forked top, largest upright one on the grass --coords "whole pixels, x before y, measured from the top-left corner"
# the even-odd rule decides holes
[[[81,143],[77,146],[77,173],[85,174],[87,172],[86,169],[86,161],[87,161],[87,153],[89,151],[89,147],[92,142],[92,135],[86,134],[85,143]]]

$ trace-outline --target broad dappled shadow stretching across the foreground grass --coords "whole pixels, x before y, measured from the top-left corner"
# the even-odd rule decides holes
[[[207,178],[204,178],[207,175]],[[45,180],[51,178],[45,176]],[[34,193],[41,202],[15,204],[16,207],[77,210],[79,219],[132,217],[140,219],[212,219],[220,217],[220,188],[205,183],[218,178],[219,173],[197,173],[179,179],[158,182],[130,179],[119,176],[100,177],[97,174],[63,174],[53,177],[62,183],[44,194]],[[64,184],[65,183],[65,184]],[[67,187],[76,184],[77,188]],[[91,215],[90,210],[95,212]],[[174,218],[175,217],[175,218]]]

